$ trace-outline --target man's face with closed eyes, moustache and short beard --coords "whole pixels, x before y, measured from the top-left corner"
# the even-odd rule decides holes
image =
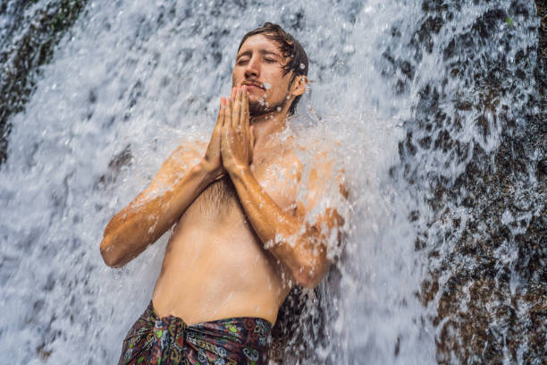
[[[250,115],[281,111],[292,101],[283,58],[277,45],[261,34],[249,37],[240,48],[231,76],[232,86],[247,85]]]

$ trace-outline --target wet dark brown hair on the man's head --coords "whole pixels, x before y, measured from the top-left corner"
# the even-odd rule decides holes
[[[264,25],[256,30],[249,31],[241,39],[240,47],[238,47],[238,52],[240,52],[241,46],[243,43],[252,36],[257,34],[263,35],[265,38],[268,38],[275,42],[280,51],[282,52],[283,57],[289,58],[289,62],[283,65],[283,74],[286,75],[289,72],[293,72],[290,77],[289,85],[292,84],[292,81],[296,79],[297,76],[304,75],[307,76],[307,55],[304,47],[300,42],[292,37],[289,33],[282,29],[277,24],[271,22],[265,22]],[[301,95],[292,100],[292,104],[289,107],[289,115],[293,115],[296,112],[296,106],[299,104]]]

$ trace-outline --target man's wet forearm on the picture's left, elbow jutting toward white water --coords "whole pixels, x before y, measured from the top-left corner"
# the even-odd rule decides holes
[[[214,179],[203,166],[189,168],[172,186],[157,194],[147,191],[117,213],[106,225],[101,254],[110,267],[122,267],[156,242]],[[150,197],[150,195],[156,195]]]

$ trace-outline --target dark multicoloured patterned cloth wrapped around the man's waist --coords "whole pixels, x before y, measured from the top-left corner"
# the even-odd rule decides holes
[[[271,324],[241,317],[187,326],[159,318],[152,301],[123,340],[119,365],[266,364]]]

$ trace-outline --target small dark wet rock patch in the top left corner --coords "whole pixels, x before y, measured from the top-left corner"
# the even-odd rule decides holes
[[[0,5],[0,165],[11,131],[8,119],[24,109],[59,39],[70,30],[87,0],[56,0],[46,6],[15,0]]]

